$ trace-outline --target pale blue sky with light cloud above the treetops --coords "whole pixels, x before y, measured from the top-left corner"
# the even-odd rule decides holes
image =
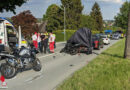
[[[89,14],[95,1],[100,5],[104,20],[113,20],[126,0],[81,0],[84,6],[83,14]],[[16,8],[16,15],[22,11],[30,10],[36,18],[42,18],[49,5],[61,5],[60,0],[29,0],[21,7]],[[0,13],[0,17],[12,17],[12,12]]]

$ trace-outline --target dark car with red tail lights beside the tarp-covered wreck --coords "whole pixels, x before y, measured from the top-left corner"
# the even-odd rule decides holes
[[[103,39],[100,35],[92,35],[92,45],[94,49],[100,49],[103,48]]]

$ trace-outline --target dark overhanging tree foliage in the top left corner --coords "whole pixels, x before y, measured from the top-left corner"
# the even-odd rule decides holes
[[[0,12],[12,11],[15,13],[16,6],[21,6],[27,0],[0,0]]]

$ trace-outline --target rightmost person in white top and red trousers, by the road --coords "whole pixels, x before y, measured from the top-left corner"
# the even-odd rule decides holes
[[[54,41],[55,41],[55,36],[53,35],[52,31],[49,33],[49,48],[50,48],[50,53],[54,53]]]

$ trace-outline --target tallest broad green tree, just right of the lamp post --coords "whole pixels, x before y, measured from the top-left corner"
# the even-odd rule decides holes
[[[65,7],[66,28],[79,28],[83,10],[81,0],[61,0],[61,3],[62,8]]]

